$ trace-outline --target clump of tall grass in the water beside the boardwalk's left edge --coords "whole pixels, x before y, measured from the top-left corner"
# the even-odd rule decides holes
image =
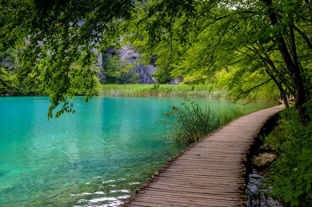
[[[171,110],[157,121],[167,125],[165,137],[174,142],[190,144],[232,120],[230,116],[218,116],[209,107],[202,110],[196,102],[188,102],[181,107],[170,106]]]

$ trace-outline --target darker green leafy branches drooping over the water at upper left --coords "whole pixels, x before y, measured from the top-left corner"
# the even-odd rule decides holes
[[[52,111],[72,112],[68,97],[84,84],[86,100],[96,96],[95,53],[118,44],[135,12],[131,0],[5,0],[0,3],[0,49],[22,48],[19,77],[41,76]],[[122,25],[124,23],[125,25]],[[74,66],[79,62],[81,69]],[[59,114],[57,114],[59,116]]]

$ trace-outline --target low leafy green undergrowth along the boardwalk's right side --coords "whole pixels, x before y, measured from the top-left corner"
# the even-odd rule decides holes
[[[282,111],[280,124],[266,138],[278,156],[270,167],[273,195],[291,206],[312,207],[312,122],[303,125],[296,113],[295,107]]]

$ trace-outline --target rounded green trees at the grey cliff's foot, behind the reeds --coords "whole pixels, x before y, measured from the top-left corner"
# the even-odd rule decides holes
[[[126,61],[120,60],[116,56],[109,54],[103,55],[103,74],[106,80],[104,83],[109,84],[132,84],[139,83],[140,75],[137,72],[128,70]]]

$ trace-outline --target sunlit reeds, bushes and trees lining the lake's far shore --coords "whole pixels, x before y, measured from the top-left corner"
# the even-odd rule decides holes
[[[48,95],[44,93],[40,78],[33,80],[27,77],[24,80],[18,78],[20,69],[19,50],[8,49],[0,53],[0,95],[1,96],[27,96]],[[100,57],[101,56],[101,57]],[[130,58],[133,58],[132,56]],[[139,57],[140,58],[140,57]],[[209,79],[193,76],[178,76],[174,78],[167,74],[162,81],[145,72],[133,71],[133,65],[123,60],[115,52],[97,55],[98,94],[104,96],[184,96],[184,97],[210,97],[239,100],[235,92],[227,87],[230,71],[218,73]],[[151,60],[155,64],[156,58]],[[139,65],[139,64],[137,64]],[[143,67],[142,67],[143,68]],[[143,68],[147,69],[147,68]],[[155,68],[157,69],[157,68]],[[156,71],[156,70],[155,70]],[[154,71],[153,71],[154,72]],[[146,77],[147,76],[147,77]],[[41,77],[42,78],[42,77]],[[148,84],[145,84],[148,78]],[[152,79],[152,81],[151,81]],[[153,81],[154,79],[155,82]],[[143,83],[143,84],[138,84]],[[154,83],[154,84],[152,84]],[[132,84],[132,85],[128,85]],[[152,84],[152,85],[151,85]],[[83,90],[76,89],[75,95],[85,95]],[[279,90],[272,82],[262,85],[260,90],[250,91],[243,100],[277,101]]]

